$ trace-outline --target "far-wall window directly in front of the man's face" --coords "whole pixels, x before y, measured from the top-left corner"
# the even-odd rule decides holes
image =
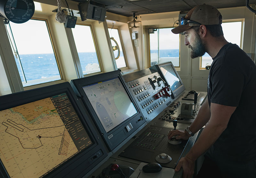
[[[180,35],[173,34],[172,28],[159,28],[149,34],[150,66],[171,61],[180,66]]]

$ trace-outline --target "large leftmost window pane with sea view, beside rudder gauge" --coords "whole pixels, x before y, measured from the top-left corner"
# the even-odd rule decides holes
[[[6,25],[23,87],[61,79],[47,23],[30,19]]]

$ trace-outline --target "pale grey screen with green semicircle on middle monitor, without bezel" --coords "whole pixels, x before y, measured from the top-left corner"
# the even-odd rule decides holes
[[[106,132],[137,113],[119,78],[84,86],[83,89]]]

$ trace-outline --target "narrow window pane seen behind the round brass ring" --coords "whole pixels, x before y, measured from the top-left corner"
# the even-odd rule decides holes
[[[117,58],[118,57],[118,50],[114,50],[114,56],[115,56],[115,58],[117,58],[116,59],[117,68],[126,67],[127,65],[126,65],[126,62],[125,62],[125,57],[124,57],[124,52],[123,52],[124,50],[123,50],[123,46],[122,46],[122,43],[121,43],[121,40],[120,40],[120,35],[119,35],[118,29],[108,28],[108,33],[109,33],[110,38],[113,37],[116,40],[116,42],[117,42],[117,44],[120,48],[119,58]],[[112,44],[112,46],[116,46],[116,43],[113,40],[111,40],[111,44]]]

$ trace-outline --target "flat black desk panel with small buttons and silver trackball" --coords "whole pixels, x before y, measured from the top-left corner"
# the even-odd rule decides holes
[[[174,168],[187,140],[173,137],[168,141],[167,134],[172,129],[150,125],[119,156],[148,163],[158,162],[164,167]]]

